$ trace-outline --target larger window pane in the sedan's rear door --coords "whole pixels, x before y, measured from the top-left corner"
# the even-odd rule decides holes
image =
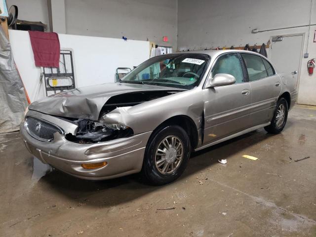
[[[260,56],[243,53],[242,57],[246,64],[249,81],[268,77],[266,67]]]

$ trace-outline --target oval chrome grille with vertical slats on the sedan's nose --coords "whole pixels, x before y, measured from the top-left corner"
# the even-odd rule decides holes
[[[24,127],[32,137],[44,142],[51,142],[55,132],[64,134],[64,131],[56,125],[35,117],[26,117]]]

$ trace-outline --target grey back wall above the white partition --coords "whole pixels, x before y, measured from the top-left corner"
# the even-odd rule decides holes
[[[12,4],[19,8],[19,19],[51,26],[50,0],[7,0]],[[65,0],[65,17],[66,34],[148,39],[176,50],[177,0]],[[163,36],[169,42],[163,42]]]

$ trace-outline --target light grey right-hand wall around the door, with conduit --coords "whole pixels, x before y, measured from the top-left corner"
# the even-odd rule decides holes
[[[311,0],[178,0],[178,49],[229,48],[247,43],[261,45],[267,44],[272,36],[304,33],[303,50],[306,52],[309,27],[257,34],[251,30],[308,25],[310,6]],[[316,0],[311,24],[316,24]],[[302,58],[299,72],[299,97],[304,96],[304,101],[310,105],[316,105],[316,73],[309,75],[306,65],[309,59],[316,58],[315,30],[316,26],[312,26],[309,58]]]

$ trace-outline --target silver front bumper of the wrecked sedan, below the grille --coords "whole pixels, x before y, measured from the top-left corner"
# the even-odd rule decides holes
[[[40,117],[40,113],[36,112],[36,114]],[[48,122],[54,120],[56,124],[56,117],[42,115]],[[52,142],[39,141],[28,134],[24,121],[20,125],[20,132],[26,148],[43,163],[48,163],[73,176],[90,180],[111,179],[139,172],[142,168],[146,144],[152,133],[150,131],[107,142],[79,144],[66,140],[64,135],[59,133],[55,133]],[[106,161],[107,165],[101,168],[81,167],[82,163],[103,161]]]

